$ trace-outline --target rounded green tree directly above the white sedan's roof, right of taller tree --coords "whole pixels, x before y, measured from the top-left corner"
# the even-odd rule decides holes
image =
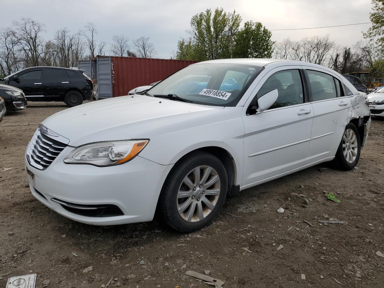
[[[233,56],[235,58],[271,58],[272,33],[260,22],[247,21],[234,36]]]

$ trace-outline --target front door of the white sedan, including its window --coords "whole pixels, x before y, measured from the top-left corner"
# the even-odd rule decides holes
[[[255,97],[260,98],[277,89],[276,102],[269,109],[253,115],[246,112],[252,99],[248,99],[244,106],[243,188],[305,166],[313,109],[308,103],[303,76],[301,66],[271,70],[256,86]]]

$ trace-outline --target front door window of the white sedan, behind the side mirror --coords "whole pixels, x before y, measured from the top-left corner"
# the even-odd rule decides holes
[[[260,88],[257,98],[277,89],[278,97],[269,109],[301,104],[303,98],[303,83],[299,70],[284,70],[272,74]]]

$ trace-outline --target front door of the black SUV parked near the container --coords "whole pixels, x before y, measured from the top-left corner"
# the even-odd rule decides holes
[[[9,85],[22,89],[25,97],[33,99],[43,98],[43,86],[41,83],[41,68],[33,68],[18,74],[20,83],[10,80]]]

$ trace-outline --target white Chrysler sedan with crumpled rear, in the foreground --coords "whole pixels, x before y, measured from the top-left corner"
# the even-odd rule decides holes
[[[310,63],[227,59],[190,65],[142,95],[66,109],[25,154],[33,196],[93,225],[208,225],[225,197],[321,162],[359,161],[371,119],[339,73]]]

